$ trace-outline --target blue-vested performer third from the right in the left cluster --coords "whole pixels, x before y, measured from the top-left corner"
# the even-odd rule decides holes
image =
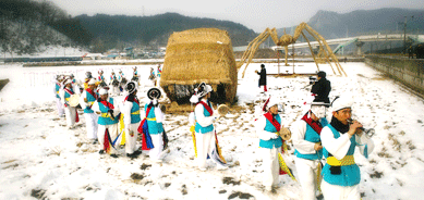
[[[100,154],[105,152],[109,153],[112,158],[118,158],[117,149],[114,148],[118,135],[118,122],[120,110],[118,102],[113,98],[109,98],[108,90],[101,88],[99,90],[99,96],[92,110],[98,114],[98,129],[97,138],[100,145]]]

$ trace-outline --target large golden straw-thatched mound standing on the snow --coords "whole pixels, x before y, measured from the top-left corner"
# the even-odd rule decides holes
[[[217,28],[173,33],[168,40],[160,86],[171,101],[184,104],[202,82],[213,86],[213,101],[234,100],[237,66],[228,33]]]

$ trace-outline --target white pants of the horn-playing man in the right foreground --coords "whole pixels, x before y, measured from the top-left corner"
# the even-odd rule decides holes
[[[337,186],[328,184],[323,179],[320,189],[325,200],[360,200],[361,195],[358,186]]]

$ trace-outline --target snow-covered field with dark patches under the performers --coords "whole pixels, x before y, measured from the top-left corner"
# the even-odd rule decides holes
[[[138,65],[142,86],[138,97],[147,102],[150,66]],[[276,73],[275,64],[266,64]],[[360,153],[363,199],[421,199],[424,195],[424,101],[404,87],[386,78],[364,63],[342,63],[348,77],[327,72],[330,98],[346,92],[355,96],[354,118],[373,127],[375,149],[366,160]],[[299,183],[280,176],[277,192],[262,186],[262,159],[254,132],[254,105],[264,98],[257,88],[259,64],[251,64],[242,79],[239,73],[240,112],[216,123],[219,143],[230,164],[216,170],[210,161],[206,172],[197,170],[187,114],[167,114],[163,123],[170,139],[163,163],[153,163],[147,154],[137,159],[100,155],[99,147],[88,142],[85,118],[75,129],[57,116],[52,78],[73,73],[83,78],[86,71],[97,76],[121,68],[131,78],[132,66],[0,66],[0,79],[10,83],[0,91],[0,199],[301,199]],[[243,68],[242,68],[243,70]],[[291,71],[291,67],[288,68]],[[296,73],[313,73],[314,63],[296,63]],[[281,68],[286,72],[286,68]],[[268,76],[267,95],[286,104],[281,114],[290,126],[300,116],[311,87],[308,78]],[[165,100],[165,99],[163,99]],[[144,103],[143,103],[144,104]],[[80,112],[82,113],[82,112]],[[143,113],[142,113],[143,115]],[[289,154],[287,162],[291,163]],[[294,175],[298,172],[292,167]]]

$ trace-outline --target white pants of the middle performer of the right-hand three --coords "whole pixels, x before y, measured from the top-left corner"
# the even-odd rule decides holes
[[[316,199],[316,173],[318,172],[319,161],[295,158],[295,167],[298,170],[298,180],[302,186],[303,200]]]

